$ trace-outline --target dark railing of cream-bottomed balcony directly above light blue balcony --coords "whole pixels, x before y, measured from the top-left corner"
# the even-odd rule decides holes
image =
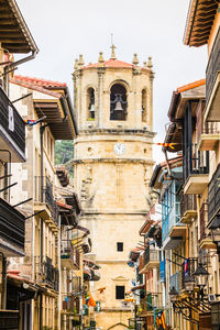
[[[186,154],[183,158],[184,163],[184,180],[186,182],[190,175],[209,173],[209,152],[199,151],[197,144],[188,145]]]

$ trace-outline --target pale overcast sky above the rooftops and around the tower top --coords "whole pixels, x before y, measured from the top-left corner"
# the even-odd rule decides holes
[[[153,56],[155,141],[164,141],[172,91],[205,78],[207,48],[183,44],[189,0],[16,0],[40,48],[16,74],[59,80],[73,90],[74,61],[84,54],[97,62],[110,57],[111,33],[117,57],[142,63]],[[155,146],[155,156],[161,147]]]

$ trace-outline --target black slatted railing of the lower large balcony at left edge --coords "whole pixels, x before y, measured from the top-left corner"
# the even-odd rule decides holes
[[[24,250],[25,217],[2,198],[0,198],[0,237]]]

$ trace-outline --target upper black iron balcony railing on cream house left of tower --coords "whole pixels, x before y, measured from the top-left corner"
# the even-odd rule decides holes
[[[59,208],[54,199],[53,184],[47,176],[34,177],[34,201],[45,202],[52,211],[52,218],[58,226]]]

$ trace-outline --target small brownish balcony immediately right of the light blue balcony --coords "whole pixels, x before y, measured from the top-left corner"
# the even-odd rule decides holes
[[[190,223],[197,217],[196,195],[180,194],[180,221]]]

